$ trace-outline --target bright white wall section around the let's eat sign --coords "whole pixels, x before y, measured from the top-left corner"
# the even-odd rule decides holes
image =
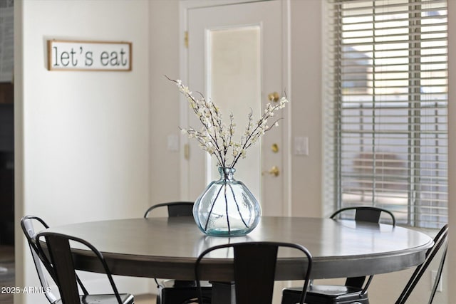
[[[147,0],[15,1],[19,286],[38,285],[30,254],[23,254],[28,250],[19,230],[24,214],[56,226],[142,216],[149,205],[149,5]],[[51,38],[131,41],[133,70],[48,71]],[[148,285],[145,279],[118,281],[131,293]],[[17,295],[15,303],[25,298],[46,303],[43,295]]]

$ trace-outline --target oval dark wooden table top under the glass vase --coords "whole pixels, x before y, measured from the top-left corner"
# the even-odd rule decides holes
[[[192,217],[94,221],[48,231],[86,239],[103,253],[114,274],[181,280],[194,278],[193,266],[199,253],[222,243],[299,243],[313,256],[311,278],[400,271],[422,263],[425,251],[432,246],[429,236],[400,226],[302,217],[264,216],[250,234],[232,238],[202,234]],[[75,254],[77,268],[101,271],[87,251],[75,250]],[[295,254],[279,251],[276,280],[302,278],[302,273],[296,271],[294,261],[299,258]],[[232,281],[229,256],[212,258],[211,268],[202,273],[202,279]]]

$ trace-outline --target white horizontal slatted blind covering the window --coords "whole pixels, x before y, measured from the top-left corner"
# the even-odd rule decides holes
[[[447,1],[327,0],[325,199],[447,223]]]

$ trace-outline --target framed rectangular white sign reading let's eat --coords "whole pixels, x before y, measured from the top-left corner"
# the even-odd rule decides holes
[[[49,70],[131,70],[130,42],[48,40]]]

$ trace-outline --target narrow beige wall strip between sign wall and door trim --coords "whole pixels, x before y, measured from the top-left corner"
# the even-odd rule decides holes
[[[180,139],[180,93],[165,78],[180,77],[179,1],[150,1],[150,201],[180,198],[180,152],[167,149],[169,135]]]

